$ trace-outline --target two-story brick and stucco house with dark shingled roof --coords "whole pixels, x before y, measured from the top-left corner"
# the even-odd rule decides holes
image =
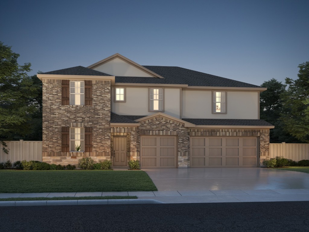
[[[181,67],[141,66],[120,54],[43,82],[43,161],[83,156],[142,168],[257,167],[269,157],[261,88]]]

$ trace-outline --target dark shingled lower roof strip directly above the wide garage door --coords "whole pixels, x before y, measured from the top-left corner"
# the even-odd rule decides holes
[[[182,118],[186,122],[195,125],[205,126],[273,126],[272,124],[259,119],[203,119],[203,118]]]

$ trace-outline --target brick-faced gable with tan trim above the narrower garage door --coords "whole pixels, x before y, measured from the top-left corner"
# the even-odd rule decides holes
[[[180,127],[181,126],[182,127],[195,127],[195,125],[190,123],[190,122],[183,121],[179,118],[175,118],[175,117],[172,117],[170,115],[163,114],[161,112],[156,113],[156,114],[151,114],[151,115],[146,116],[144,118],[139,118],[135,121],[139,122],[141,125],[149,123],[149,122],[154,122],[154,121],[165,121],[165,122],[169,122],[171,124],[174,124],[174,125],[180,126]]]

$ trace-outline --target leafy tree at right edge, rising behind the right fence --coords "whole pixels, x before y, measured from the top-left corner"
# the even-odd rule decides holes
[[[288,133],[309,143],[309,62],[298,68],[298,79],[286,78],[289,88],[282,94],[280,119]]]

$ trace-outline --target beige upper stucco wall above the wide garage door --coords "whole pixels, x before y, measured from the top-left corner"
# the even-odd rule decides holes
[[[227,92],[227,114],[212,114],[212,92],[183,90],[182,118],[258,119],[258,92]]]

